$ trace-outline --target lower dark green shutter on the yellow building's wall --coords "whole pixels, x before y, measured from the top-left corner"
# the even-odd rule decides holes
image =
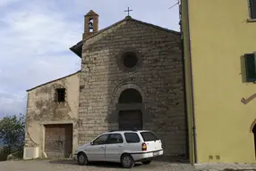
[[[256,81],[255,55],[254,53],[248,53],[244,54],[244,57],[246,68],[246,80],[247,82]]]

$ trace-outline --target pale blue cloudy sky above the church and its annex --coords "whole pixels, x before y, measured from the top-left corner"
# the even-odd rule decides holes
[[[81,69],[69,48],[93,10],[99,29],[133,19],[179,31],[178,0],[0,0],[0,118],[26,114],[26,90]]]

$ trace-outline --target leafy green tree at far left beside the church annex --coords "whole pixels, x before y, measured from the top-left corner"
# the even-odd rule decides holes
[[[4,142],[4,149],[8,154],[22,151],[25,137],[25,119],[22,114],[6,116],[0,120],[0,139]]]

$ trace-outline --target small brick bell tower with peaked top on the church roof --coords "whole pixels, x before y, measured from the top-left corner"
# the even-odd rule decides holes
[[[91,35],[98,32],[98,14],[90,10],[84,16],[84,33],[82,39],[90,37]]]

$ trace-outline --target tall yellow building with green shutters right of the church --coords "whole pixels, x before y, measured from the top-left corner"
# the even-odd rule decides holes
[[[192,163],[255,163],[256,1],[182,0]]]

